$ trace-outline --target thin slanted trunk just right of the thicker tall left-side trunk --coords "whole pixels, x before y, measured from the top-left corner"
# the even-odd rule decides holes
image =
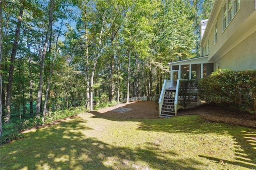
[[[64,15],[66,14],[66,12],[64,13]],[[44,110],[43,110],[43,116],[42,116],[42,123],[44,123],[44,119],[45,119],[45,115],[46,115],[46,110],[47,110],[47,101],[48,101],[48,95],[49,95],[49,89],[50,89],[50,84],[51,84],[51,78],[52,78],[52,70],[53,70],[53,67],[54,67],[54,62],[55,62],[55,59],[57,57],[57,52],[58,52],[58,40],[59,40],[59,37],[60,37],[60,32],[61,32],[61,29],[62,29],[62,25],[63,25],[63,21],[64,21],[64,18],[62,18],[62,21],[60,23],[60,29],[58,31],[58,36],[57,36],[57,39],[56,39],[56,49],[54,51],[54,57],[53,57],[53,60],[52,60],[52,66],[50,68],[50,75],[49,75],[49,79],[48,79],[48,84],[47,84],[47,89],[46,89],[46,95],[45,95],[45,99],[44,99]],[[52,30],[52,28],[51,28]]]

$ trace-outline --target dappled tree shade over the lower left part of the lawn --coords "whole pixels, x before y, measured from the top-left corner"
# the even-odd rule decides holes
[[[196,160],[170,160],[157,144],[131,149],[104,143],[84,133],[92,128],[74,117],[28,132],[22,140],[1,146],[1,170],[10,169],[190,169]],[[179,156],[178,153],[166,154]],[[188,163],[189,162],[189,163]]]

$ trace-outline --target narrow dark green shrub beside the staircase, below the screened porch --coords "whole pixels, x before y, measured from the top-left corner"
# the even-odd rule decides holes
[[[198,82],[198,79],[180,80],[179,96],[182,98],[180,104],[184,109],[189,105],[191,96],[197,95],[197,91],[195,90],[198,89]]]

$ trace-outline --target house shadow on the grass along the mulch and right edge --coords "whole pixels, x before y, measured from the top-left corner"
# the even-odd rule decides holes
[[[136,103],[132,103],[136,105]],[[130,105],[129,105],[130,106]],[[107,114],[91,112],[94,118],[103,118],[111,121],[140,121],[138,130],[168,132],[168,133],[190,133],[190,134],[223,134],[231,135],[236,148],[230,148],[235,152],[236,161],[224,160],[225,163],[256,169],[256,130],[254,128],[213,123],[202,119],[198,115],[173,117],[169,119],[115,119]],[[198,155],[210,161],[220,163],[222,158]]]

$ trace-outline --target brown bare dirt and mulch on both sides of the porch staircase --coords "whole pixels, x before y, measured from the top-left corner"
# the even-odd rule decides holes
[[[119,107],[129,108],[125,112],[116,112]],[[148,118],[158,119],[159,110],[154,101],[137,101],[121,104],[114,107],[100,109],[90,112],[94,115],[103,115],[111,118]],[[227,123],[230,125],[241,125],[256,128],[256,114],[231,111],[228,107],[202,104],[191,109],[179,109],[177,116],[200,115],[203,119],[213,122]]]

